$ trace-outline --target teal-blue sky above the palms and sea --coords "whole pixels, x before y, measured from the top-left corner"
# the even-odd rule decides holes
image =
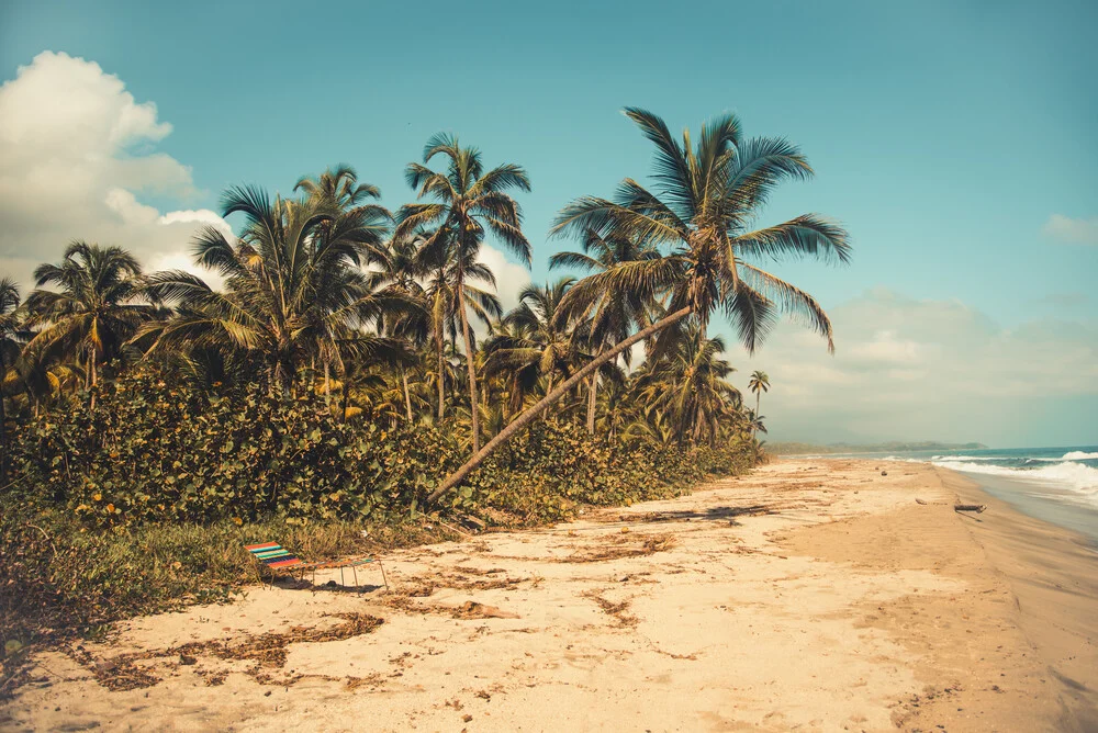
[[[489,163],[507,160],[529,170],[534,193],[522,203],[535,280],[547,277],[548,253],[567,246],[545,239],[562,204],[607,194],[623,177],[650,170],[649,146],[619,114],[621,106],[645,106],[672,128],[695,129],[735,111],[748,134],[797,142],[818,172],[810,183],[782,190],[761,222],[815,211],[852,234],[850,268],[780,270],[845,314],[836,318],[845,332],[837,332],[839,353],[824,362],[828,369],[848,376],[882,372],[860,371],[876,362],[858,363],[859,347],[871,357],[893,348],[886,360],[906,354],[928,372],[944,363],[932,359],[942,353],[930,348],[941,346],[932,334],[919,340],[888,324],[866,330],[870,319],[858,315],[904,298],[911,302],[905,313],[952,304],[978,316],[965,327],[978,322],[995,343],[961,360],[973,370],[986,374],[996,371],[988,366],[996,360],[1038,358],[1019,334],[1042,324],[1033,332],[1061,339],[1046,348],[1076,354],[1082,364],[1064,365],[1075,376],[1051,368],[1004,375],[1000,398],[993,392],[975,399],[971,388],[954,385],[944,402],[949,409],[967,405],[964,415],[973,417],[963,425],[945,413],[925,424],[918,410],[890,426],[864,414],[839,418],[842,410],[831,403],[798,413],[795,402],[803,399],[782,397],[775,380],[771,409],[763,409],[775,438],[1098,442],[1098,397],[1087,386],[1096,380],[1086,368],[1098,351],[1093,2],[703,2],[682,11],[648,2],[598,9],[427,2],[413,10],[402,3],[219,4],[9,0],[0,5],[0,76],[16,80],[18,67],[42,52],[65,53],[116,76],[136,104],[155,103],[156,120],[169,123],[170,134],[161,126],[134,135],[107,155],[164,154],[177,163],[167,178],[99,178],[88,185],[125,189],[160,213],[216,208],[219,192],[240,182],[288,192],[299,176],[340,161],[379,184],[395,208],[412,195],[403,166],[433,133],[455,132],[481,147]],[[63,101],[54,103],[63,104],[57,97]],[[0,116],[0,131],[15,129],[12,119],[31,114],[26,106],[0,106],[9,115]],[[0,173],[31,196],[24,184],[42,176],[29,146],[20,150],[20,167]],[[157,158],[160,163],[168,166]],[[26,230],[34,228],[25,214],[33,207],[21,207]],[[94,229],[89,222],[74,225]],[[56,221],[49,226],[52,237],[65,233]],[[124,238],[121,229],[110,232]],[[31,234],[0,239],[0,258],[19,271],[34,256],[56,257],[74,236],[87,235],[43,239],[33,251],[26,250]],[[187,236],[177,238],[184,250]],[[171,241],[157,246],[161,251]],[[741,371],[763,368],[804,384],[807,368],[789,366],[802,361],[799,335],[787,330],[775,335],[773,357],[768,349],[750,362],[735,350],[730,356]],[[822,351],[818,342],[805,349],[813,351],[809,360]],[[778,358],[782,363],[773,363]],[[904,395],[931,383],[907,376],[874,388]],[[1031,410],[1019,420],[1029,425],[1004,428],[1013,419],[1010,405],[1065,380],[1069,384],[1051,397],[1062,402],[1058,408],[1040,408],[1037,424]],[[845,388],[864,392],[865,382],[859,377]]]

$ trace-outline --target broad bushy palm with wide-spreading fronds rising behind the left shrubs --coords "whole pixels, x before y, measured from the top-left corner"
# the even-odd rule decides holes
[[[358,206],[336,211],[318,200],[272,201],[265,191],[242,187],[223,198],[223,216],[243,213],[236,243],[205,227],[195,239],[195,260],[225,279],[215,292],[182,271],[147,278],[155,297],[177,304],[170,319],[145,326],[146,353],[215,347],[258,359],[271,388],[289,392],[299,366],[318,356],[341,363],[348,348],[372,356],[405,351],[393,339],[366,332],[386,315],[417,304],[391,289],[376,291],[361,270],[383,241],[384,211]]]

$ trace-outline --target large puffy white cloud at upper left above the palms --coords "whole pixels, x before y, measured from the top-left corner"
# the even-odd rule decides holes
[[[161,214],[155,194],[197,195],[191,169],[154,146],[171,133],[93,61],[44,52],[0,87],[0,270],[24,284],[72,239],[121,245],[147,267],[187,257],[208,210]]]

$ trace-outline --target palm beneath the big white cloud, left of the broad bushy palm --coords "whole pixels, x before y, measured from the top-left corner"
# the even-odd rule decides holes
[[[38,266],[34,279],[38,290],[26,298],[30,324],[44,327],[29,348],[47,361],[82,360],[94,409],[99,364],[120,356],[142,324],[159,313],[145,297],[141,264],[121,247],[74,241],[59,264]],[[45,285],[60,290],[41,290]]]

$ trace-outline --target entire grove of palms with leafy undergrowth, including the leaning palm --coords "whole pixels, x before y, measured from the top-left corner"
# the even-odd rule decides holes
[[[531,178],[445,134],[407,165],[396,211],[349,166],[291,198],[225,191],[239,235],[197,235],[205,278],[74,241],[31,292],[4,280],[7,490],[99,525],[439,503],[529,518],[753,463],[769,380],[744,405],[713,320],[749,351],[783,315],[833,348],[822,308],[771,266],[845,263],[847,233],[817,214],[757,224],[777,184],[813,174],[787,140],[744,137],[733,115],[676,138],[625,112],[654,146],[651,185],[567,203],[560,277],[509,311],[480,255],[530,264],[513,194]]]

